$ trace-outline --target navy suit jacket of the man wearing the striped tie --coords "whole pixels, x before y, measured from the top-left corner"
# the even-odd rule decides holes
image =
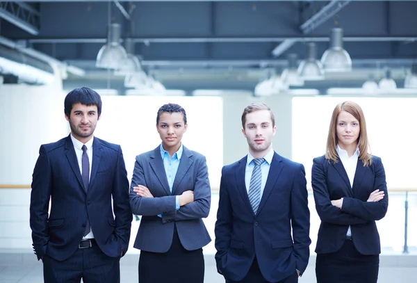
[[[215,223],[218,272],[228,280],[243,280],[256,255],[269,282],[296,269],[303,273],[311,243],[304,166],[275,153],[255,215],[245,186],[246,163],[247,156],[222,168]]]

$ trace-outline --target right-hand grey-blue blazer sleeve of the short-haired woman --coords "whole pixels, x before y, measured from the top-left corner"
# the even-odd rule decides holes
[[[183,205],[176,213],[163,214],[162,222],[206,218],[210,212],[211,187],[208,181],[206,158],[202,157],[197,168],[194,186],[194,202]]]

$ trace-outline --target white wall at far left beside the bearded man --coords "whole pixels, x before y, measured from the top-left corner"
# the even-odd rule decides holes
[[[42,143],[68,134],[64,93],[51,86],[0,85],[0,184],[29,185]],[[30,248],[30,189],[0,189],[0,248]]]

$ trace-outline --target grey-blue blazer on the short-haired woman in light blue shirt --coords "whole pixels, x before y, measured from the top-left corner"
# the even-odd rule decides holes
[[[133,191],[137,185],[146,186],[154,197],[137,195]],[[194,191],[194,202],[176,210],[175,196],[184,191]],[[175,227],[183,248],[197,250],[204,247],[211,241],[202,220],[208,216],[210,202],[206,157],[202,154],[183,146],[172,193],[160,147],[136,156],[130,204],[133,214],[143,217],[133,247],[147,252],[167,252],[172,244]]]

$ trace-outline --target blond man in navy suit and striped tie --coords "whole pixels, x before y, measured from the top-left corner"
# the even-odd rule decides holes
[[[304,166],[272,149],[277,127],[265,104],[247,106],[242,127],[249,153],[222,169],[218,272],[227,283],[295,283],[311,243]]]

